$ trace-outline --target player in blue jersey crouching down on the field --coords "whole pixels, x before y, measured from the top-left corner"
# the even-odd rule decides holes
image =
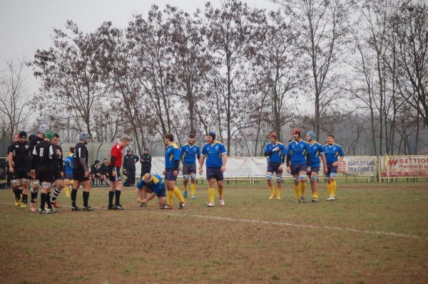
[[[163,179],[158,174],[144,174],[137,183],[137,191],[141,196],[141,207],[146,207],[147,202],[158,196],[159,206],[166,204],[166,189]]]

